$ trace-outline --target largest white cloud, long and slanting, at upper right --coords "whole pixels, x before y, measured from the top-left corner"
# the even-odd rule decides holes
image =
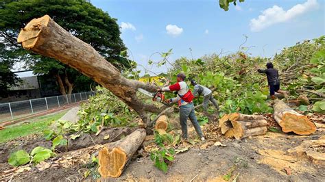
[[[274,25],[276,23],[282,23],[295,18],[300,14],[304,14],[309,10],[317,7],[317,0],[307,0],[303,4],[294,5],[290,10],[283,10],[282,7],[274,5],[272,8],[268,8],[262,12],[258,18],[250,20],[250,29],[252,31],[261,31],[266,27]]]

